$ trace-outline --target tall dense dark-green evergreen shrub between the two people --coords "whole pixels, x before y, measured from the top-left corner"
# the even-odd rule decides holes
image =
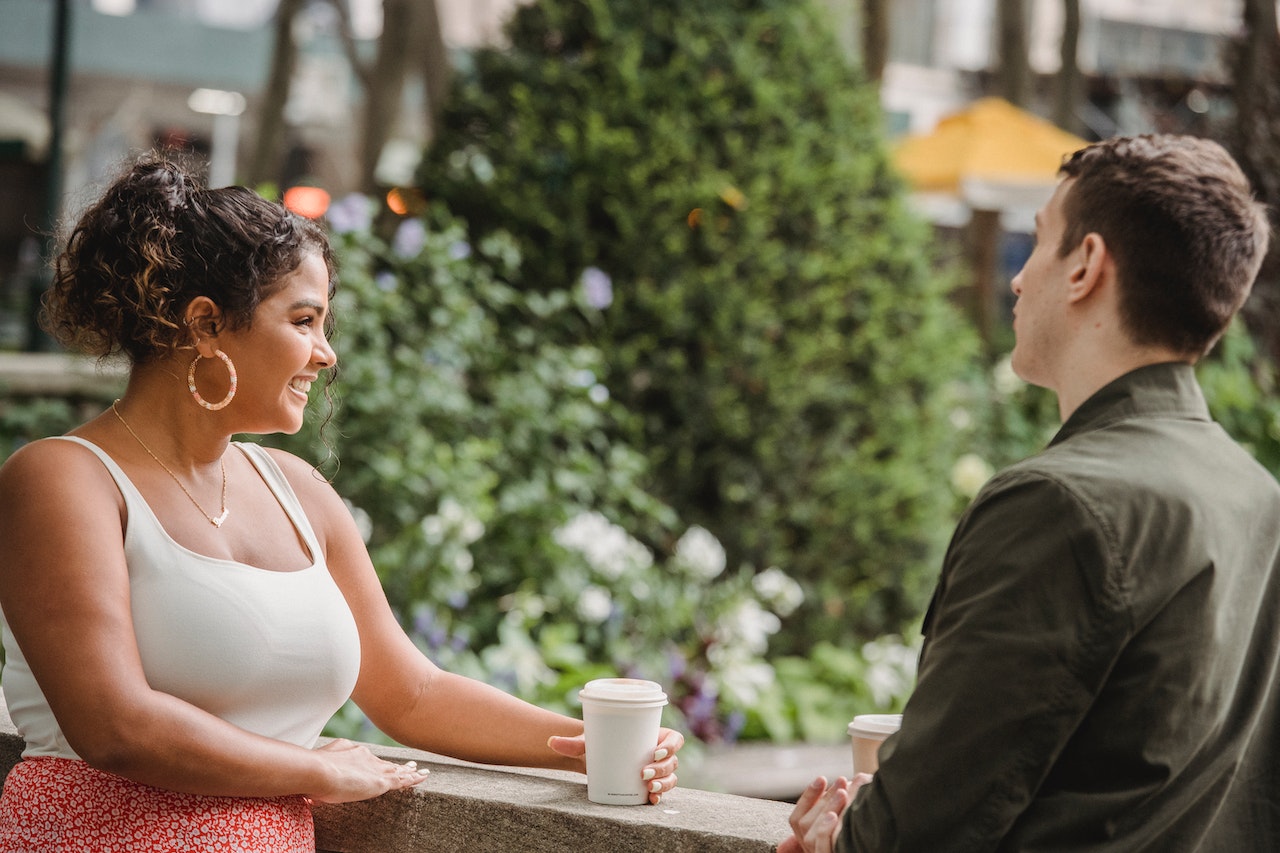
[[[732,565],[780,566],[783,648],[923,608],[977,347],[905,209],[876,92],[826,17],[771,0],[541,0],[480,51],[420,174],[513,236],[524,291],[579,291],[653,491]]]

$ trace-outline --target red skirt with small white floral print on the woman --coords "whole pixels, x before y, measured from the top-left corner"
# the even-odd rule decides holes
[[[69,758],[27,758],[0,793],[0,853],[315,853],[305,797],[200,797]]]

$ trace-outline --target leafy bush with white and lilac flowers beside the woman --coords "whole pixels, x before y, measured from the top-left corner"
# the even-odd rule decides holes
[[[710,533],[644,491],[646,460],[608,429],[600,352],[541,333],[576,310],[571,293],[513,288],[508,238],[472,245],[435,207],[383,240],[367,200],[342,205],[335,406],[268,441],[340,460],[324,469],[410,637],[570,713],[591,678],[649,678],[672,724],[735,738],[773,683],[768,642],[799,587],[727,566]],[[353,206],[366,215],[344,219]],[[376,738],[353,708],[330,733]]]

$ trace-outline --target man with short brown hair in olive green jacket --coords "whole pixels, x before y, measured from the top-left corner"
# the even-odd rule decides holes
[[[1266,214],[1203,140],[1112,138],[1061,173],[1012,365],[1064,425],[960,520],[879,771],[814,780],[783,853],[1280,849],[1280,487],[1192,368]]]

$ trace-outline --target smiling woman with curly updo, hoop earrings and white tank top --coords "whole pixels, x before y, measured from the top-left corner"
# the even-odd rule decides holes
[[[316,748],[348,697],[406,745],[584,768],[580,721],[417,651],[308,464],[230,441],[301,428],[337,362],[333,280],[317,225],[159,158],[72,232],[50,330],[132,369],[110,409],[0,469],[3,685],[27,743],[0,797],[0,852],[310,853],[308,800],[426,772]],[[676,785],[682,743],[662,730],[650,802]]]

